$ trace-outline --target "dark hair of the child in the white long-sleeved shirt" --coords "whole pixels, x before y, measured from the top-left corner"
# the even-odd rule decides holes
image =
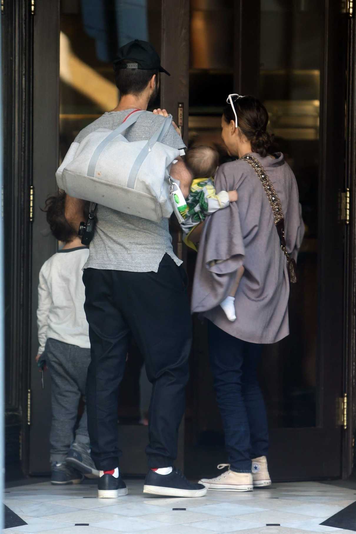
[[[64,243],[70,243],[77,236],[75,230],[65,218],[66,193],[58,192],[51,195],[45,202],[44,211],[50,225],[52,235]]]

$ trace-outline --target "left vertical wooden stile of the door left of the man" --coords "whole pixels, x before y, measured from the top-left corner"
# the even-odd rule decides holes
[[[49,433],[51,425],[50,375],[45,373],[45,387],[34,357],[38,349],[37,287],[43,263],[57,250],[44,207],[46,197],[57,189],[55,173],[59,162],[59,19],[58,0],[38,3],[34,15],[34,136],[33,184],[35,187],[32,278],[31,278],[31,391],[33,417],[30,426],[31,474],[49,472]],[[45,53],[44,53],[45,51]],[[44,59],[45,56],[45,59]],[[44,468],[44,459],[46,468]]]

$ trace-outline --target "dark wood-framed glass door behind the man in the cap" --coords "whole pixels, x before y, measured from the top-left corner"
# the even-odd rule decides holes
[[[56,250],[41,210],[47,194],[56,191],[54,173],[77,133],[102,113],[117,105],[112,61],[123,44],[134,40],[150,41],[161,53],[162,64],[169,65],[169,80],[161,83],[154,107],[166,107],[178,122],[178,104],[187,109],[182,80],[185,72],[185,31],[187,0],[166,6],[165,0],[48,0],[39,3],[35,15],[34,112],[35,198],[33,264],[33,315],[36,313],[38,272]],[[181,21],[180,25],[177,23]],[[184,21],[184,22],[183,22]],[[175,40],[172,40],[175,35]],[[181,54],[183,60],[177,61]],[[174,63],[173,63],[174,59]],[[187,119],[181,116],[184,128]],[[187,128],[185,129],[187,133]],[[43,150],[43,148],[45,150]],[[181,254],[179,234],[173,229],[173,242]],[[180,244],[180,252],[178,245]],[[36,347],[36,321],[33,320],[33,352]],[[41,389],[33,366],[33,431],[30,443],[30,471],[49,471],[50,383]],[[147,412],[151,384],[143,358],[132,343],[125,376],[121,384],[117,418],[120,447],[124,454],[124,474],[143,475],[147,471],[145,446],[148,442]],[[177,465],[183,465],[183,431]],[[41,451],[41,454],[38,454]]]

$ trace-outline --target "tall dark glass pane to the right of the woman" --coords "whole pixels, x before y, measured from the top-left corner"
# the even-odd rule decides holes
[[[273,427],[317,425],[317,237],[323,5],[261,0],[260,98],[295,173],[306,234],[291,289],[290,336],[266,349],[263,384]],[[273,37],[271,34],[273,28]]]

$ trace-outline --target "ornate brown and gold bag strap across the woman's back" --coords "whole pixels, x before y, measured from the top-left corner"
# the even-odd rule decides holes
[[[296,274],[297,265],[296,265],[295,260],[293,260],[293,258],[291,258],[287,252],[286,237],[284,236],[284,216],[283,216],[282,206],[278,198],[278,195],[274,190],[274,187],[270,181],[270,178],[268,178],[268,176],[266,175],[264,168],[262,167],[260,162],[256,158],[254,158],[254,156],[251,156],[251,154],[246,154],[242,156],[241,159],[244,161],[247,161],[247,163],[250,164],[250,166],[252,167],[252,169],[254,169],[260,182],[262,183],[264,187],[268,201],[270,202],[270,206],[273,211],[274,224],[278,232],[281,249],[287,258],[289,281],[291,284],[295,284],[297,281],[297,274]]]

